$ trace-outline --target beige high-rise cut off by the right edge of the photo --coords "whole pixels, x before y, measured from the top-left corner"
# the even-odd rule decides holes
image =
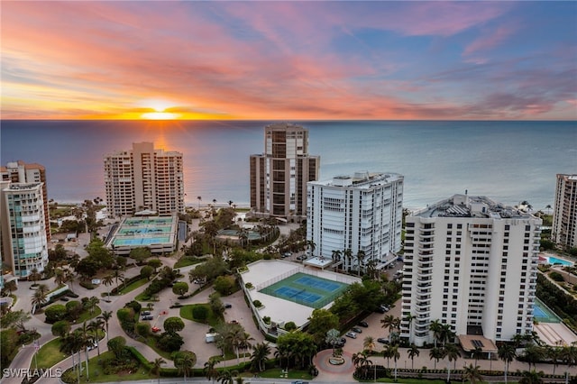
[[[557,244],[577,248],[577,175],[557,174],[552,234]]]

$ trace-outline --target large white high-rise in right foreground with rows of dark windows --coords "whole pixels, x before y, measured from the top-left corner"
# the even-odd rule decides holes
[[[434,343],[438,321],[465,351],[496,352],[494,342],[533,331],[541,224],[466,193],[406,217],[401,337]]]

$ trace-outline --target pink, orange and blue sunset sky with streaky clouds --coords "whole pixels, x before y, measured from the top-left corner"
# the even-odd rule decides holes
[[[577,119],[577,2],[2,1],[3,119]]]

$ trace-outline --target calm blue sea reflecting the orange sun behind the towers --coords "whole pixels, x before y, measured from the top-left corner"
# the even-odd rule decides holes
[[[133,142],[184,154],[188,204],[249,202],[249,155],[264,150],[264,121],[2,121],[2,165],[38,162],[49,197],[105,197],[103,156]],[[309,129],[321,179],[359,170],[405,176],[404,206],[468,190],[506,205],[554,205],[556,173],[577,173],[577,122],[294,122]]]

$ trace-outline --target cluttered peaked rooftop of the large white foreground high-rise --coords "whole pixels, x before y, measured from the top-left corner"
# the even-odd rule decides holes
[[[489,197],[453,195],[413,215],[419,217],[478,217],[478,218],[529,218],[531,214],[513,206],[496,203]]]

